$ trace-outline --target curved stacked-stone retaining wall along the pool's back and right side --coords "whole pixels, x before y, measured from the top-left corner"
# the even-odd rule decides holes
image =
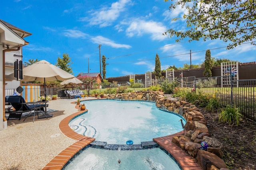
[[[218,170],[226,168],[223,156],[222,144],[209,134],[204,115],[199,109],[186,101],[168,99],[163,92],[159,91],[140,91],[123,94],[104,94],[104,98],[118,100],[144,100],[155,102],[156,107],[173,111],[186,119],[184,135],[172,138],[172,142],[186,150],[190,156],[196,158],[203,170]],[[201,142],[208,143],[207,150],[201,149]]]

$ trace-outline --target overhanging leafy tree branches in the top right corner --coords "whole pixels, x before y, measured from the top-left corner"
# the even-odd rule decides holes
[[[164,0],[167,2],[168,0]],[[232,49],[256,37],[256,8],[254,0],[170,0],[169,10],[186,8],[183,18],[188,30],[169,29],[164,35],[177,36],[177,42],[188,37],[190,41],[200,38],[230,41]],[[179,20],[174,18],[172,20]]]

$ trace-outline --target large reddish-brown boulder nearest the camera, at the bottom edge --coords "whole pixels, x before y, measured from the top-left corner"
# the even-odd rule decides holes
[[[222,160],[216,154],[207,152],[205,150],[198,150],[196,160],[201,166],[202,170],[210,170],[212,165],[218,169],[227,168],[224,160]]]

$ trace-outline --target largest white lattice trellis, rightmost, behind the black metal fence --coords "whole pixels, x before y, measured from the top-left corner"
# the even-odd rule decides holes
[[[228,61],[221,63],[221,87],[226,87],[231,85],[231,76],[226,76],[227,70],[236,70],[236,74],[233,75],[233,85],[236,85],[238,87],[238,83],[236,80],[239,80],[238,78],[238,61]]]

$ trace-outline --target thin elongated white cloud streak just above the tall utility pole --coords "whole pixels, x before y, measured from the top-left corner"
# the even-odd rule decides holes
[[[132,47],[132,46],[126,45],[126,44],[117,44],[114,41],[112,41],[112,40],[110,40],[108,38],[102,37],[102,36],[92,37],[91,40],[92,40],[93,43],[102,44],[102,45],[108,45],[108,46],[113,47],[113,48],[126,48],[126,49],[130,49]]]

